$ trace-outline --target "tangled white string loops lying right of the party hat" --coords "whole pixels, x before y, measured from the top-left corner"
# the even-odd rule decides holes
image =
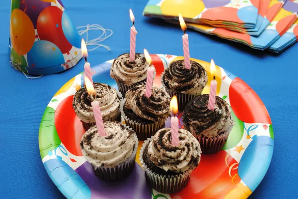
[[[104,41],[104,40],[106,40],[107,38],[111,37],[112,34],[113,34],[113,31],[112,30],[105,29],[104,27],[102,27],[99,24],[92,24],[92,25],[87,24],[86,26],[76,27],[76,29],[82,29],[82,28],[84,28],[84,29],[83,30],[78,30],[78,34],[81,36],[81,35],[83,35],[83,34],[86,33],[86,46],[95,46],[92,49],[88,49],[88,51],[94,51],[98,47],[104,47],[108,51],[111,50],[110,47],[108,47],[106,45],[99,44],[99,43],[102,42],[102,41]],[[95,39],[91,39],[89,41],[88,40],[88,31],[91,31],[91,30],[101,30],[102,31],[102,34],[99,37],[97,37]]]

